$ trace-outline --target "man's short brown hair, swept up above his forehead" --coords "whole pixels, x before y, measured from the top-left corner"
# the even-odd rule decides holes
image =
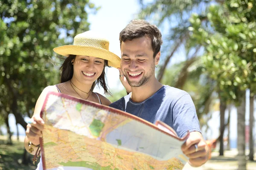
[[[163,43],[162,34],[157,26],[151,25],[148,21],[131,20],[119,34],[120,45],[126,40],[133,40],[143,36],[148,36],[151,39],[151,46],[154,52],[153,57],[156,57]]]

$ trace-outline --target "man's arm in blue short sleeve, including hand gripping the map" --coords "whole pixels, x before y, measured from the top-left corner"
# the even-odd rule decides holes
[[[208,160],[209,147],[204,141],[195,110],[195,105],[189,94],[183,95],[173,108],[174,127],[180,137],[190,132],[182,145],[183,153],[189,157],[189,164],[200,167]]]

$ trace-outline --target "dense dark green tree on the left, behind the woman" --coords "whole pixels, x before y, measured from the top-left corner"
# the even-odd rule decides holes
[[[59,81],[52,49],[87,31],[87,11],[97,9],[88,0],[0,2],[1,114],[13,113],[26,129],[23,116],[31,116],[41,91]]]

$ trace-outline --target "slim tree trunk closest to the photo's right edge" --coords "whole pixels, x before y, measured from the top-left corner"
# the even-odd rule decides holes
[[[253,155],[254,155],[254,139],[253,139],[253,127],[254,127],[254,116],[253,116],[253,110],[254,110],[254,97],[250,96],[250,153],[249,153],[249,160],[253,161]]]

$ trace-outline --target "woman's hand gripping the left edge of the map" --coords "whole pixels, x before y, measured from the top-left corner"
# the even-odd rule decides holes
[[[40,144],[39,138],[43,136],[44,120],[38,116],[32,116],[26,129],[26,136],[34,145]]]

